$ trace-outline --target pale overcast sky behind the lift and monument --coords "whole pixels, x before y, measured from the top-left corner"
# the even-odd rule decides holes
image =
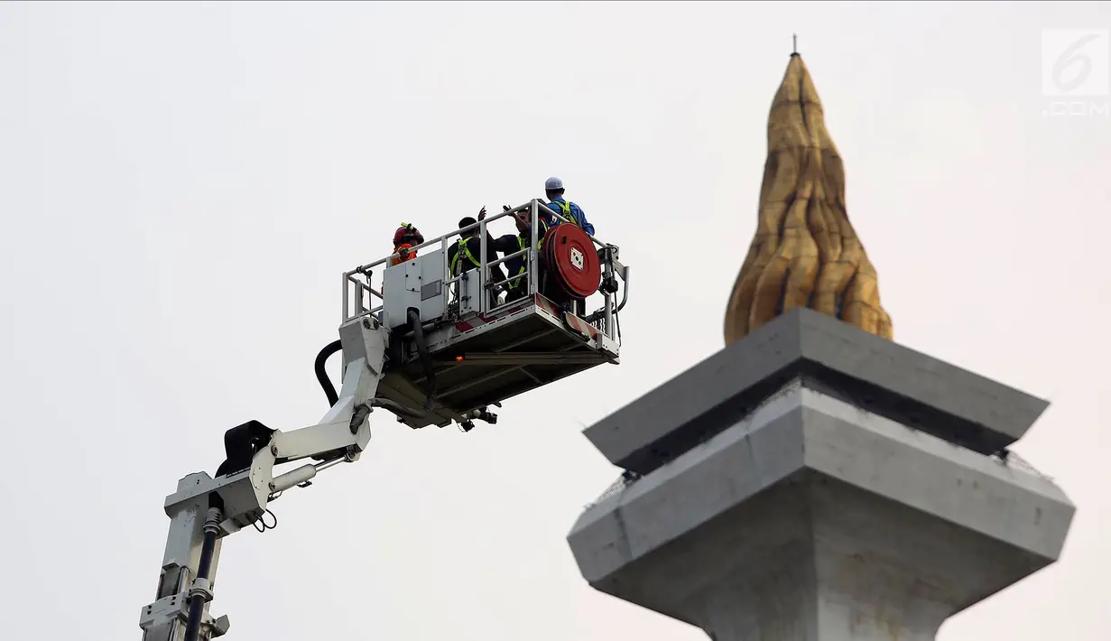
[[[565,535],[619,472],[581,430],[722,348],[798,33],[895,340],[1052,401],[1015,451],[1078,504],[1059,563],[939,639],[1104,639],[1111,117],[1043,96],[1041,37],[1109,26],[1103,2],[0,4],[0,629],[139,639],[177,480],[233,425],[327,410],[341,273],[401,221],[438,236],[559,176],[632,269],[621,364],[466,434],[376,413],[358,463],[224,541],[212,611],[239,640],[704,639],[579,574]]]

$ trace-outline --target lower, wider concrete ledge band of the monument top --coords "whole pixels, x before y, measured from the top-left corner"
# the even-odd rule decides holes
[[[568,540],[583,577],[599,587],[669,545],[702,545],[695,530],[750,511],[745,504],[774,488],[829,482],[864,492],[891,514],[974,533],[1038,567],[1060,555],[1075,510],[1042,477],[800,389],[602,500]],[[770,517],[752,513],[747,528],[765,529]]]

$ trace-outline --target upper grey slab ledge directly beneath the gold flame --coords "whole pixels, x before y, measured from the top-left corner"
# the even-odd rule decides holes
[[[832,317],[793,309],[585,430],[648,474],[728,429],[792,380],[963,448],[1021,439],[1049,402]]]

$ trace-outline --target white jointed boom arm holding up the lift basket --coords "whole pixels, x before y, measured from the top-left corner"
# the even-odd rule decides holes
[[[139,615],[143,641],[208,641],[227,632],[228,618],[208,612],[221,539],[247,525],[258,528],[274,494],[308,484],[318,471],[336,463],[357,460],[370,442],[367,419],[377,404],[389,332],[373,318],[356,318],[340,327],[340,344],[343,387],[319,423],[281,432],[251,421],[229,430],[224,437],[229,459],[221,468],[230,465],[230,472],[216,479],[206,472],[189,474],[167,497],[170,531],[157,600]],[[237,430],[239,437],[251,435],[246,453],[242,448],[232,451],[231,434]],[[243,439],[242,445],[248,442]],[[237,453],[243,464],[233,462]],[[274,475],[276,465],[308,458],[321,462]]]

